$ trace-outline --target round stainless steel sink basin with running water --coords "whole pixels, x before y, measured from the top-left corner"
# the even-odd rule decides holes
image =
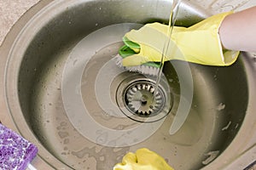
[[[125,31],[167,23],[171,6],[42,1],[9,32],[1,47],[2,105],[9,126],[38,145],[35,167],[111,169],[128,151],[146,147],[174,169],[215,170],[247,150],[256,129],[252,54],[241,53],[229,67],[166,62],[153,106],[147,99],[155,77],[115,65]],[[185,2],[177,25],[207,16]]]

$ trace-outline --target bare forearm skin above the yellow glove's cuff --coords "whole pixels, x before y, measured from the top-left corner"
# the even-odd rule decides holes
[[[256,52],[256,7],[228,15],[219,28],[223,47]]]

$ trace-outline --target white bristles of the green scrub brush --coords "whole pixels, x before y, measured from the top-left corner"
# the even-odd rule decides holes
[[[159,68],[154,66],[148,66],[148,65],[124,66],[122,63],[123,58],[119,54],[117,54],[114,58],[116,61],[116,65],[118,65],[119,68],[122,68],[126,71],[139,72],[143,75],[148,75],[153,77],[156,77],[159,73]]]

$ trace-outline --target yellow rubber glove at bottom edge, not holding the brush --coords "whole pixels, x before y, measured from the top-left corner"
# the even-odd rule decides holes
[[[139,149],[136,153],[129,152],[123,161],[113,167],[113,170],[173,170],[164,158],[148,149]]]

